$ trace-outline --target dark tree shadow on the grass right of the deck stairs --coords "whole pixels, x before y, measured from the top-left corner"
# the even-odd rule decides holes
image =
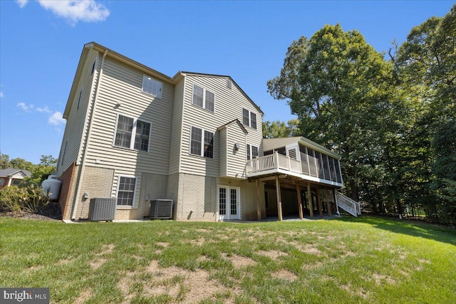
[[[432,239],[443,243],[450,243],[456,246],[456,229],[436,224],[423,223],[420,221],[408,221],[391,219],[381,216],[343,216],[333,219],[334,221],[346,221],[351,223],[370,224],[378,229],[384,229],[396,234],[407,234],[425,239]]]

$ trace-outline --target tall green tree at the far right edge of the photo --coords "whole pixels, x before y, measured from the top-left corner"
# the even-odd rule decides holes
[[[456,4],[443,18],[432,17],[413,28],[400,46],[395,64],[421,130],[417,150],[425,151],[425,180],[432,196],[427,211],[440,221],[456,222]],[[424,188],[424,187],[423,187]]]

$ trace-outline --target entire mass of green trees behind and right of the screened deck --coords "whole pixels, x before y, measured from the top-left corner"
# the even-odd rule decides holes
[[[385,58],[387,57],[387,58]],[[456,223],[456,4],[388,55],[326,25],[291,43],[268,92],[298,120],[265,137],[304,136],[341,154],[346,195],[375,214],[425,209]]]

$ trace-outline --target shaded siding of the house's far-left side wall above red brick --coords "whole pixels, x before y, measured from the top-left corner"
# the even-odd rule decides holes
[[[88,111],[90,110],[93,98],[95,98],[96,85],[100,73],[98,52],[93,50],[88,52],[86,63],[83,65],[83,73],[77,84],[76,94],[73,96],[73,104],[66,122],[65,132],[63,133],[61,150],[58,157],[57,175],[65,172],[73,162],[79,163],[81,161],[81,151],[83,150],[84,137],[86,136],[88,127]],[[92,75],[92,66],[95,60],[95,70]],[[81,102],[78,108],[81,89],[83,89],[83,94],[81,95]],[[62,163],[61,157],[63,157],[63,152],[65,152],[65,157]]]

